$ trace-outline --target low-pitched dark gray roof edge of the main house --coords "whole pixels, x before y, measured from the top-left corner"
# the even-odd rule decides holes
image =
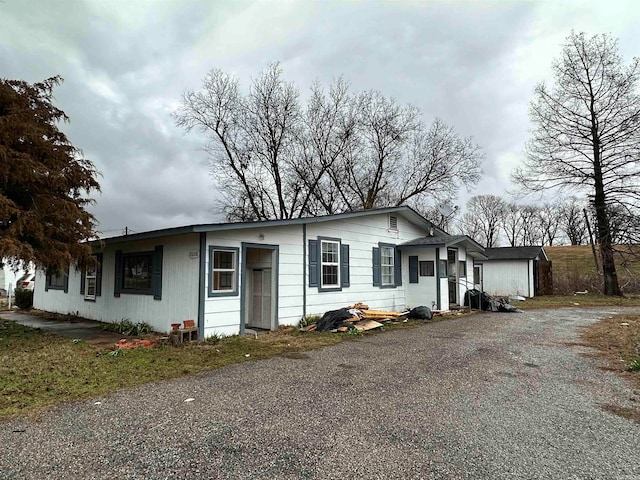
[[[435,227],[429,220],[424,218],[418,212],[411,207],[399,206],[379,208],[375,210],[359,210],[356,212],[338,213],[335,215],[322,215],[319,217],[305,217],[305,218],[292,218],[285,220],[266,220],[260,222],[230,222],[230,223],[206,223],[198,225],[187,225],[184,227],[164,228],[161,230],[151,230],[148,232],[134,233],[130,235],[121,235],[117,237],[103,238],[95,240],[91,243],[118,243],[118,242],[130,242],[134,240],[148,240],[159,237],[169,237],[174,235],[185,235],[189,233],[201,233],[201,232],[215,232],[215,231],[227,231],[227,230],[243,230],[249,228],[259,227],[276,227],[285,225],[303,225],[312,223],[329,222],[332,220],[343,220],[348,218],[363,217],[368,215],[378,215],[384,213],[397,213],[405,217],[411,223],[424,228],[426,231],[431,229],[437,235],[447,235],[444,231]]]

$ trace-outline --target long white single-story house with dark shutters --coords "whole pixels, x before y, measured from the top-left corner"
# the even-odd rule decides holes
[[[97,270],[38,272],[36,308],[158,331],[195,319],[201,337],[277,329],[364,302],[448,310],[483,247],[409,207],[167,228],[92,243]]]

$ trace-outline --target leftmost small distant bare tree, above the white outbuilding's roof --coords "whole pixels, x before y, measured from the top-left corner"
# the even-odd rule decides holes
[[[476,195],[467,201],[467,211],[462,216],[460,230],[487,248],[499,244],[500,225],[507,208],[502,197]]]

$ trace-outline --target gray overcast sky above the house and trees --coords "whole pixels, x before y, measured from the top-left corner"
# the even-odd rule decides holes
[[[212,68],[248,87],[269,63],[304,93],[343,76],[472,136],[486,154],[471,195],[502,194],[523,157],[535,84],[574,29],[638,56],[640,2],[0,0],[0,77],[60,75],[62,126],[102,176],[103,236],[222,221],[203,137],[171,113]]]

